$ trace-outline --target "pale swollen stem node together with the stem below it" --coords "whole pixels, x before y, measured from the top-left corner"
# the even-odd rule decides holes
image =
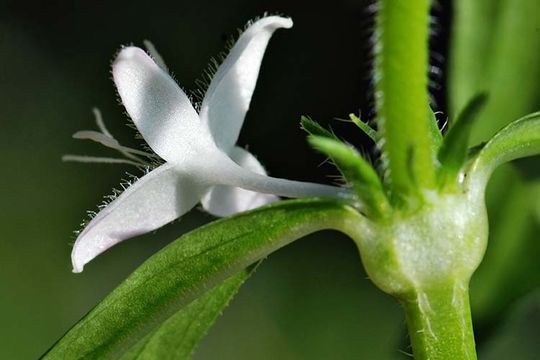
[[[480,191],[427,193],[350,234],[371,280],[404,306],[416,359],[475,359],[468,283],[487,244]]]

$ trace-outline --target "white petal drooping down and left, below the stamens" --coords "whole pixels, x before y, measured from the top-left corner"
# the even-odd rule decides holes
[[[187,174],[187,172],[185,172]],[[143,176],[113,200],[80,233],[73,272],[119,242],[155,230],[197,204],[206,186],[169,164]]]

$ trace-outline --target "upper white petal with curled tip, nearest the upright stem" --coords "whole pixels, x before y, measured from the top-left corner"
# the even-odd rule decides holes
[[[279,16],[256,21],[240,36],[214,75],[199,114],[224,151],[228,152],[238,139],[272,33],[291,26],[291,19]]]

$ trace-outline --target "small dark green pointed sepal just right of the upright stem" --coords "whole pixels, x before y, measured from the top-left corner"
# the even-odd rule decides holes
[[[474,120],[478,117],[486,100],[485,93],[474,96],[446,133],[438,154],[441,163],[439,181],[442,186],[454,185],[457,182],[458,173],[467,160]]]

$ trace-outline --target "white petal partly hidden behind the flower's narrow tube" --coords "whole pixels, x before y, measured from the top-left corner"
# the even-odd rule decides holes
[[[246,170],[266,175],[261,163],[248,151],[235,146],[229,155],[234,162]],[[203,208],[215,216],[229,216],[255,209],[279,198],[271,194],[261,194],[232,186],[213,186],[201,200]]]

